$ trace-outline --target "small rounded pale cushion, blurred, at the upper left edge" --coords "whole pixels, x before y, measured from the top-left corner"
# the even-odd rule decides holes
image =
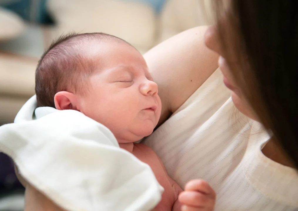
[[[0,7],[0,40],[16,37],[24,28],[24,21],[18,15]]]

